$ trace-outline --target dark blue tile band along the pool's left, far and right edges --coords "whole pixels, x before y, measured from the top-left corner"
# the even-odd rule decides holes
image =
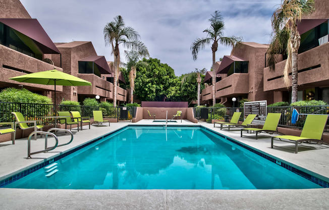
[[[8,184],[11,184],[12,182],[15,182],[15,181],[17,181],[17,180],[19,180],[19,179],[21,179],[21,178],[23,178],[23,177],[25,177],[25,176],[27,176],[27,175],[35,172],[37,170],[39,170],[39,169],[41,169],[41,168],[43,168],[43,167],[45,167],[45,166],[47,166],[47,165],[55,162],[55,161],[58,161],[58,160],[64,158],[65,156],[67,156],[67,155],[69,155],[69,154],[71,154],[71,153],[73,153],[73,152],[75,152],[77,150],[80,150],[80,149],[82,149],[82,148],[84,148],[84,147],[86,147],[86,146],[88,146],[88,145],[90,145],[92,143],[95,143],[95,142],[103,139],[104,137],[107,137],[107,136],[109,136],[109,135],[111,135],[111,134],[113,134],[115,132],[118,132],[118,131],[120,131],[122,129],[125,129],[127,127],[144,127],[144,126],[146,126],[146,127],[151,127],[151,126],[152,127],[165,127],[165,125],[163,125],[163,124],[157,124],[157,125],[149,125],[149,124],[128,124],[128,125],[125,125],[125,126],[123,126],[121,128],[115,129],[115,130],[113,130],[111,132],[108,132],[106,134],[103,134],[103,135],[101,135],[99,137],[93,138],[93,139],[88,140],[88,141],[85,141],[85,142],[83,142],[83,143],[81,143],[79,145],[76,145],[76,146],[74,146],[72,148],[69,148],[69,149],[66,149],[66,150],[64,150],[62,152],[59,152],[58,154],[55,154],[55,155],[53,155],[53,156],[51,156],[49,158],[46,158],[44,160],[40,160],[39,162],[34,163],[32,165],[29,165],[27,167],[24,167],[21,170],[18,170],[16,172],[12,172],[12,173],[7,174],[7,175],[5,175],[3,177],[0,177],[0,188],[4,188]],[[239,140],[236,140],[236,139],[231,138],[229,136],[226,136],[226,135],[224,135],[222,133],[219,133],[219,132],[217,132],[215,130],[212,130],[210,128],[207,128],[207,127],[205,127],[203,125],[167,125],[167,127],[202,127],[202,128],[204,128],[204,129],[206,129],[206,130],[208,130],[208,131],[210,131],[210,132],[212,132],[212,133],[214,133],[216,135],[219,135],[219,136],[225,138],[226,140],[228,140],[228,141],[230,141],[232,143],[235,143],[235,144],[237,144],[237,145],[239,145],[239,146],[241,146],[241,147],[243,147],[243,148],[245,148],[245,149],[247,149],[247,150],[249,150],[249,151],[251,151],[251,152],[253,152],[253,153],[257,154],[257,155],[259,155],[259,156],[261,156],[262,158],[265,158],[266,160],[268,160],[268,161],[270,161],[272,163],[275,163],[278,166],[281,166],[281,167],[283,167],[283,168],[285,168],[285,169],[287,169],[287,170],[289,170],[289,171],[291,171],[291,172],[293,172],[293,173],[295,173],[295,174],[297,174],[297,175],[299,175],[299,176],[301,176],[301,177],[303,177],[303,178],[305,178],[305,179],[307,179],[307,180],[309,180],[309,181],[311,181],[311,182],[313,182],[313,183],[315,183],[315,184],[317,184],[317,185],[319,185],[319,186],[321,186],[323,188],[328,188],[329,187],[328,181],[323,180],[323,179],[329,180],[329,178],[327,178],[327,177],[323,177],[323,176],[321,176],[321,175],[319,175],[319,174],[317,174],[315,172],[312,172],[312,171],[309,171],[309,170],[304,169],[302,167],[296,166],[296,165],[294,165],[292,163],[289,163],[289,162],[287,162],[285,160],[282,160],[282,159],[278,158],[275,155],[268,154],[265,151],[261,151],[261,150],[259,150],[257,148],[254,148],[254,147],[252,147],[250,145],[247,145],[247,144],[245,144],[243,142],[240,142]],[[318,178],[318,177],[321,177],[321,178]]]

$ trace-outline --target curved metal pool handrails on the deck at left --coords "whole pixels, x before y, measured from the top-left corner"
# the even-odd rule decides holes
[[[53,134],[53,133],[50,133],[50,131],[65,131],[65,132],[69,132],[70,135],[71,135],[71,140],[67,143],[64,143],[64,144],[58,144],[58,137]],[[44,149],[43,150],[40,150],[40,151],[35,151],[35,152],[31,152],[31,138],[33,135],[36,135],[36,134],[45,134],[45,143],[44,143]],[[55,138],[55,145],[53,147],[48,147],[47,143],[48,143],[48,135],[50,136],[53,136]],[[38,153],[41,153],[41,152],[47,152],[47,151],[50,151],[50,150],[53,150],[55,149],[56,147],[59,147],[59,146],[64,146],[64,145],[68,145],[69,143],[71,143],[73,141],[73,134],[71,131],[69,130],[66,130],[66,129],[61,129],[61,128],[50,128],[49,130],[47,131],[33,131],[28,139],[27,139],[27,158],[31,158],[31,155],[32,154],[38,154]]]

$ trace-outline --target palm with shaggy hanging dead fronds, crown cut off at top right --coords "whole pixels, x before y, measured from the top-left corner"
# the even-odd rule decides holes
[[[281,6],[273,13],[271,18],[272,37],[267,49],[267,62],[270,68],[274,67],[275,55],[286,52],[288,58],[283,72],[284,84],[290,86],[288,72],[292,71],[292,99],[297,101],[298,88],[298,49],[300,45],[300,34],[297,24],[302,15],[314,11],[313,0],[282,0]]]

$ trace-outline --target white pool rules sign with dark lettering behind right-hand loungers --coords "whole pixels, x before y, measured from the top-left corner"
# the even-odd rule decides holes
[[[266,120],[266,106],[267,101],[266,100],[260,100],[260,101],[252,101],[252,102],[245,102],[244,103],[244,118],[246,118],[249,114],[256,114],[254,121],[252,121],[253,124],[261,124],[264,125],[264,122]]]

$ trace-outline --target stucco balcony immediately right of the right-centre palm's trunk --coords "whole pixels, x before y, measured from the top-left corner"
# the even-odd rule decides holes
[[[216,82],[216,98],[233,97],[248,94],[249,74],[232,74],[219,82]]]

